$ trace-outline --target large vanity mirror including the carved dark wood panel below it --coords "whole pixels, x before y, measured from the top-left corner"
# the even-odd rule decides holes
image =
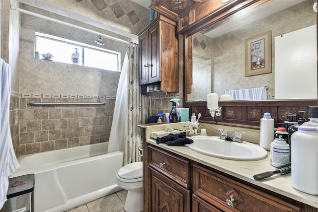
[[[272,3],[277,2],[279,4],[271,7]],[[287,3],[290,4],[287,5]],[[210,21],[210,24],[203,24],[204,27],[194,24],[187,29],[183,29],[185,61],[183,107],[189,107],[190,113],[205,114],[201,118],[202,122],[234,126],[248,125],[257,129],[264,112],[272,114],[275,119],[275,127],[281,127],[288,114],[296,115],[300,110],[307,110],[308,106],[318,105],[317,26],[315,26],[317,24],[317,13],[313,10],[313,4],[313,0],[272,0],[262,5],[245,7],[226,16],[226,18],[221,18],[219,21]],[[271,8],[269,9],[271,12],[265,12],[262,10],[264,8]],[[242,18],[239,18],[239,16]],[[219,16],[217,16],[218,18]],[[232,20],[236,20],[236,22],[230,24]],[[203,23],[202,20],[198,22]],[[286,59],[275,61],[278,56],[275,38],[279,38],[281,35],[285,37],[285,35],[293,34],[295,31],[310,26],[313,26],[313,33],[315,33],[314,42],[310,44],[314,47],[314,57],[311,59],[314,63],[314,68],[313,66],[311,68],[313,72],[303,74],[304,71],[309,69],[300,65],[296,73],[292,73],[290,71],[292,67],[289,67],[284,69],[284,71],[287,70],[287,73],[283,73],[283,77],[275,78],[275,75],[279,72],[277,62],[282,62],[283,66],[289,65]],[[212,31],[209,29],[212,29]],[[245,40],[267,31],[271,32],[272,71],[245,76]],[[307,38],[298,36],[293,42],[304,40],[306,41]],[[289,45],[289,47],[293,46],[294,43]],[[283,50],[286,53],[293,51],[287,48],[283,48]],[[296,55],[302,56],[302,54]],[[294,60],[299,61],[300,59],[301,57],[296,57]],[[201,71],[196,71],[196,68],[193,67],[199,67]],[[291,82],[290,78],[296,81]],[[311,79],[313,81],[309,83]],[[275,98],[275,90],[278,90],[277,85],[283,85],[283,88],[285,85],[292,85],[291,87],[295,87],[296,90],[302,85],[309,85],[306,89],[311,89],[314,92],[311,96],[301,94],[295,97],[287,95],[288,92],[286,92],[281,95],[282,97]],[[222,115],[216,117],[215,120],[212,120],[206,109],[208,93],[215,92],[220,97],[225,90],[264,86],[268,87],[267,100],[219,101],[219,106],[222,107]],[[289,91],[289,89],[285,88],[285,91]]]

